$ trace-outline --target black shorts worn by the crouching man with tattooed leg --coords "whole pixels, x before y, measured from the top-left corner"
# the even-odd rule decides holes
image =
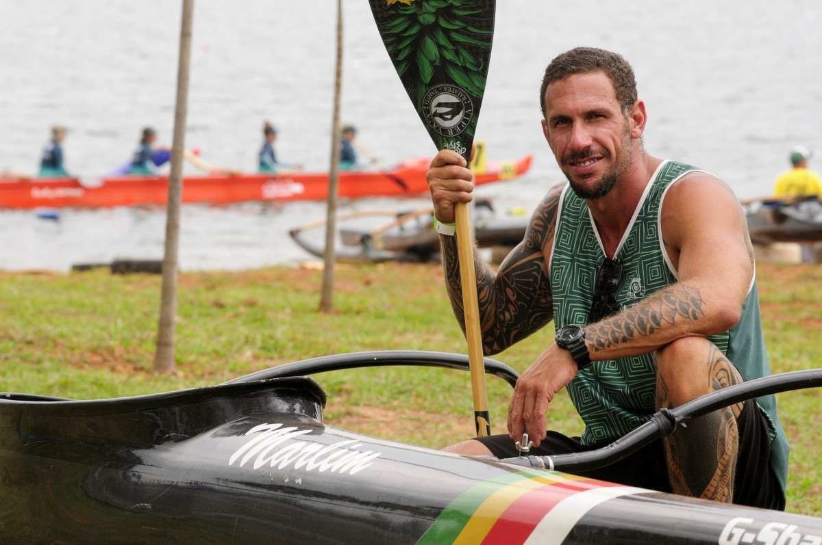
[[[737,419],[737,426],[739,428],[739,456],[737,474],[733,483],[733,502],[742,506],[783,511],[785,496],[769,465],[770,437],[767,417],[754,401],[746,401]],[[520,455],[514,442],[507,435],[477,437],[476,440],[482,442],[497,458],[514,458]],[[595,447],[584,447],[580,443],[580,437],[567,437],[561,433],[549,431],[539,447],[532,448],[529,455],[570,454],[603,446],[601,444]],[[672,492],[662,439],[615,464],[576,473],[612,483],[649,488],[659,492]]]

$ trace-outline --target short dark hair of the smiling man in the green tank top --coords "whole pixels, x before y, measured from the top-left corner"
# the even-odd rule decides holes
[[[636,103],[634,69],[619,53],[598,48],[573,48],[557,55],[545,69],[543,85],[539,89],[539,107],[545,117],[545,92],[548,85],[575,74],[603,71],[614,86],[622,112],[630,112]]]

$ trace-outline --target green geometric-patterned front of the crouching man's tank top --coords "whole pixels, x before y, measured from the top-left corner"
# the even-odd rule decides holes
[[[659,237],[659,208],[668,185],[699,170],[666,161],[658,167],[637,204],[634,221],[614,258],[622,263],[619,289],[613,295],[621,309],[634,305],[677,279],[663,257]],[[605,258],[592,227],[588,205],[569,186],[563,192],[551,261],[554,323],[588,323],[593,282]],[[709,337],[727,353],[728,332]],[[585,424],[586,446],[610,442],[644,424],[653,414],[656,372],[653,355],[595,361],[567,386],[571,401]]]

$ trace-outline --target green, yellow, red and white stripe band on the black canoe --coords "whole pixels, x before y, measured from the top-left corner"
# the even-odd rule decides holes
[[[525,543],[560,501],[614,486],[553,471],[504,474],[451,501],[418,543]]]

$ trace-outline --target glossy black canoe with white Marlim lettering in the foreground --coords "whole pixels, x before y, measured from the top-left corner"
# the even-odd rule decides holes
[[[376,352],[150,396],[0,395],[3,543],[822,543],[812,517],[349,433],[289,376],[407,364],[466,360]]]

